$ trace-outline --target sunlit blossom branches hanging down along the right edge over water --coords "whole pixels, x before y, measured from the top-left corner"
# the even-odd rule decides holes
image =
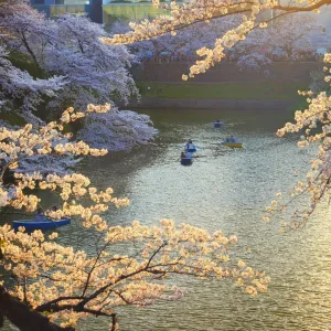
[[[324,55],[325,82],[329,82],[331,54]],[[317,147],[317,157],[310,161],[310,171],[303,181],[298,181],[290,192],[291,199],[308,194],[309,206],[303,211],[296,211],[291,217],[290,227],[301,227],[318,203],[323,197],[330,197],[331,179],[331,96],[327,92],[313,93],[312,90],[298,92],[302,96],[308,96],[309,107],[303,111],[297,110],[295,122],[287,122],[284,128],[277,131],[277,136],[284,137],[288,134],[301,134],[298,141],[299,148],[308,146]],[[276,200],[267,207],[267,213],[284,211],[287,203],[278,203]],[[267,221],[269,217],[265,216]]]

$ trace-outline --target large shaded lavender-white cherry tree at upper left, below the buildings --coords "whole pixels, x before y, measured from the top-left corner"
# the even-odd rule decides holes
[[[9,33],[8,47],[26,53],[46,73],[66,77],[66,88],[50,106],[71,103],[85,108],[109,99],[127,103],[137,94],[128,72],[130,54],[124,46],[102,43],[99,38],[106,32],[86,17],[64,14],[51,20],[21,4],[12,7],[1,25]]]

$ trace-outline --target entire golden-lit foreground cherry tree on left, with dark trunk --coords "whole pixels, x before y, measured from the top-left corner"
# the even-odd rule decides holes
[[[0,264],[14,279],[14,284],[8,277],[1,280],[0,314],[20,330],[74,330],[77,320],[87,316],[109,318],[110,330],[117,330],[118,307],[180,299],[182,289],[161,281],[175,275],[233,279],[253,296],[266,291],[269,278],[244,260],[235,260],[232,247],[237,243],[236,236],[221,231],[209,233],[188,224],[175,226],[171,220],[161,220],[159,226],[137,221],[129,226],[109,226],[104,217],[109,204],[125,206],[129,201],[114,197],[111,188],[97,190],[81,173],[17,171],[13,181],[6,182],[8,171],[19,169],[25,156],[104,156],[106,150],[83,141],[62,142],[70,139],[63,126],[86,114],[105,114],[109,108],[110,105],[89,105],[85,113],[68,108],[60,122],[38,129],[31,125],[0,129],[0,211],[33,212],[43,206],[45,215],[53,220],[81,218],[82,226],[96,237],[95,254],[87,255],[82,247],[57,244],[56,233],[46,237],[41,231],[29,234],[24,228],[14,232],[10,225],[0,226]],[[54,145],[54,140],[58,142]],[[36,188],[58,194],[61,209],[47,210],[31,193]],[[124,247],[125,254],[113,253]]]

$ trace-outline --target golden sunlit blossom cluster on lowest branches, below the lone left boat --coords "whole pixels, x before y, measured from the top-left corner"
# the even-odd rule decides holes
[[[233,279],[252,296],[267,290],[269,277],[244,260],[229,258],[237,238],[221,231],[209,233],[161,220],[159,226],[135,221],[104,233],[97,254],[90,257],[52,242],[56,234],[46,238],[41,231],[29,235],[8,225],[0,227],[0,264],[18,280],[11,293],[68,325],[92,311],[110,316],[119,306],[180,299],[182,289],[160,282],[177,274]],[[127,255],[113,254],[118,245],[127,247]]]

